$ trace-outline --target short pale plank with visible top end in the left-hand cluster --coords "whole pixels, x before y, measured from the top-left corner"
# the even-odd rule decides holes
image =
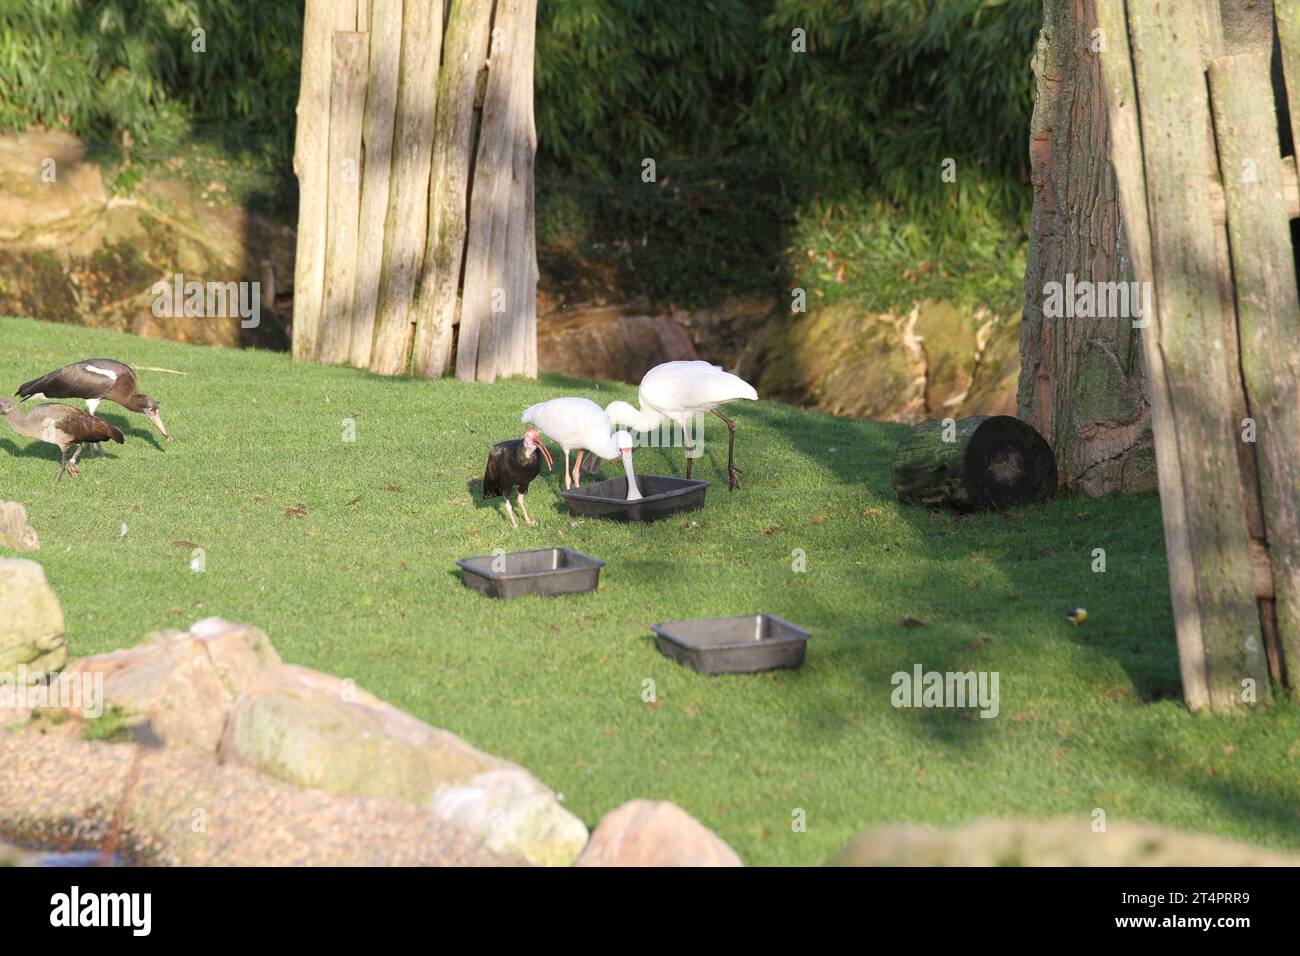
[[[368,42],[367,34],[334,34],[326,200],[329,237],[325,246],[325,300],[318,334],[318,358],[330,364],[346,362],[352,345]]]

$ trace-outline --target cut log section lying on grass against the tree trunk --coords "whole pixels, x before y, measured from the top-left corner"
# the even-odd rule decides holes
[[[894,449],[893,486],[905,505],[957,511],[1028,505],[1056,492],[1056,457],[1041,434],[1010,415],[931,419]]]

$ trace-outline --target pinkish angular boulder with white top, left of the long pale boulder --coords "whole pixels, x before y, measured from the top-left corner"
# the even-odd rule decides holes
[[[151,635],[134,648],[73,661],[51,693],[74,701],[74,715],[95,717],[87,709],[98,705],[116,708],[129,722],[148,723],[148,734],[166,747],[213,753],[235,698],[278,663],[280,654],[257,628],[207,618],[187,633]],[[99,680],[96,701],[99,695],[87,688]]]

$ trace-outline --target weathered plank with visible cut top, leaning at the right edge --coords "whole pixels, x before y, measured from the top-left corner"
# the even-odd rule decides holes
[[[1209,77],[1278,639],[1300,678],[1300,291],[1274,161],[1282,147],[1266,108],[1269,55],[1219,57]]]

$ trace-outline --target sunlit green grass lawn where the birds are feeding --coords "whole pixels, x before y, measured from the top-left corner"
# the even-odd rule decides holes
[[[471,486],[488,447],[519,437],[533,402],[634,388],[387,380],[0,319],[4,394],[101,356],[186,373],[140,372],[176,441],[104,405],[126,445],[56,485],[57,450],[0,423],[0,498],[27,506],[77,656],[208,615],[254,622],[285,659],[519,761],[589,826],[632,797],[672,800],[748,864],[818,864],[880,823],[1095,808],[1300,847],[1300,711],[1183,709],[1154,496],[928,514],[889,486],[900,427],[759,402],[729,408],[740,492],[708,423],[703,511],[580,522],[543,472],[541,527],[512,531]],[[681,473],[681,453],[641,450],[637,467]],[[494,602],[454,564],[551,545],[604,559],[599,592]],[[1078,628],[1062,618],[1075,605]],[[801,670],[705,678],[651,643],[660,620],[751,611],[812,631]],[[1000,715],[894,709],[890,676],[915,663],[998,672]]]

